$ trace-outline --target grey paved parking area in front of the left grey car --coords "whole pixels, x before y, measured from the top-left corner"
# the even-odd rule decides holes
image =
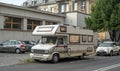
[[[0,66],[19,64],[27,58],[29,58],[29,53],[0,53]]]

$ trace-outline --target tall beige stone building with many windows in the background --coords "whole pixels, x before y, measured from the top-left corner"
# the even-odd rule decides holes
[[[33,0],[27,0],[23,3],[23,6],[54,13],[77,11],[80,13],[90,14],[91,8],[95,4],[95,0],[38,0],[35,4],[32,3]]]

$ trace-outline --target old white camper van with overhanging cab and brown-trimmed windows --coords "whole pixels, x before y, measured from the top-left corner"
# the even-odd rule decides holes
[[[39,44],[31,49],[35,61],[58,62],[61,58],[81,57],[94,53],[93,31],[67,25],[37,26],[32,33],[40,36]]]

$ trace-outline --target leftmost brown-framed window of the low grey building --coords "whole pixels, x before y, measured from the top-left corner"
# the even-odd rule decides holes
[[[21,18],[17,17],[5,17],[4,28],[11,30],[20,30],[21,29]]]

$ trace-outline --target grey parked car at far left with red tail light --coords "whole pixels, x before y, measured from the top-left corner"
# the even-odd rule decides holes
[[[1,52],[25,53],[25,44],[19,40],[7,40],[0,44]]]

